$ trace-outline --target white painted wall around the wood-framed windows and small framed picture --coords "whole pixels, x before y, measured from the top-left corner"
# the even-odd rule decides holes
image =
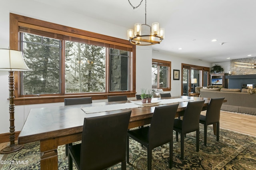
[[[39,20],[53,22],[64,26],[79,28],[82,30],[126,39],[128,28],[95,20],[70,11],[63,11],[58,7],[45,6],[31,0],[3,0],[0,6],[0,48],[9,47],[9,13],[19,14]],[[47,11],[47,12],[46,12]],[[60,17],[61,16],[61,17]],[[75,19],[74,19],[75,18]],[[164,43],[164,42],[163,42]],[[152,58],[172,61],[172,69],[181,70],[181,63],[211,67],[210,63],[182,59],[159,52],[152,52],[152,46],[136,48],[136,92],[140,94],[141,88],[151,89],[151,62]],[[181,71],[180,71],[181,74]],[[173,75],[172,75],[173,76]],[[181,78],[181,75],[180,75]],[[9,91],[8,72],[0,71],[0,134],[9,132]],[[172,80],[172,96],[180,95],[181,79]],[[93,102],[100,102],[93,101]],[[15,107],[16,131],[22,129],[24,121],[31,108],[60,106],[64,103],[48,103],[38,105],[19,105]]]

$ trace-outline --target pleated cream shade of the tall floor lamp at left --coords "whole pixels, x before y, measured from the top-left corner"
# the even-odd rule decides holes
[[[0,49],[0,71],[29,71],[22,51]]]

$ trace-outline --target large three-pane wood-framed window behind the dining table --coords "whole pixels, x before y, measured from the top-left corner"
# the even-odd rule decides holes
[[[30,68],[14,73],[16,105],[62,102],[67,96],[135,96],[135,45],[127,40],[16,14],[10,14],[10,24],[10,32],[19,33],[10,34],[10,42],[19,42],[10,47],[23,51]]]

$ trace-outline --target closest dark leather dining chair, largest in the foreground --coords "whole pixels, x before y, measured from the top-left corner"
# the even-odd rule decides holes
[[[131,111],[84,118],[82,143],[68,146],[68,169],[104,170],[122,162],[126,170],[126,138]]]

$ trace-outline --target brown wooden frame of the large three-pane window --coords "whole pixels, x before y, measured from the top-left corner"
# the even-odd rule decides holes
[[[54,24],[51,22],[46,22],[42,20],[37,20],[34,18],[29,18],[25,16],[20,16],[17,14],[10,13],[10,49],[20,50],[20,40],[19,40],[19,28],[26,27],[39,31],[51,32],[56,35],[62,34],[65,36],[72,36],[76,38],[82,38],[88,41],[106,43],[108,47],[112,48],[123,48],[127,51],[131,51],[130,57],[130,90],[129,91],[114,91],[110,92],[108,89],[108,77],[109,77],[109,63],[106,63],[106,92],[94,92],[94,93],[76,93],[76,94],[65,94],[63,91],[59,94],[44,94],[32,97],[26,97],[25,95],[20,95],[20,71],[14,72],[14,104],[15,105],[30,105],[30,104],[41,104],[41,103],[57,103],[64,102],[64,98],[72,97],[92,97],[93,100],[97,99],[107,99],[108,95],[127,95],[127,97],[135,97],[136,94],[136,45],[130,44],[128,40],[123,40],[119,38],[114,38],[110,36],[105,36],[102,34],[97,34],[93,32],[88,32],[76,28],[71,28],[68,26],[62,26],[59,24]],[[64,49],[62,48],[62,52]],[[108,62],[108,61],[106,61]],[[64,62],[62,63],[62,66]],[[61,69],[65,69],[62,67]],[[63,71],[63,70],[62,70]],[[63,72],[62,72],[63,73]],[[64,74],[61,75],[62,80],[64,80]],[[64,88],[64,83],[61,84],[61,89]]]

